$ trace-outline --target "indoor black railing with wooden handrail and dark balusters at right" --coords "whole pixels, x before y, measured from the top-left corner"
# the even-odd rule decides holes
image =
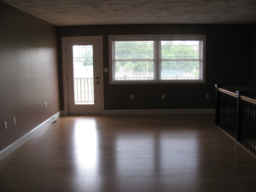
[[[215,124],[240,142],[252,153],[256,153],[256,100],[255,88],[232,89],[216,87]],[[248,97],[247,95],[250,95]]]

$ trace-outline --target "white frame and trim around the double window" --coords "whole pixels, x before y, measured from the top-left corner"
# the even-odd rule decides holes
[[[109,84],[177,84],[177,83],[205,83],[205,55],[206,55],[206,35],[109,35],[108,36],[108,41],[109,41]],[[186,39],[193,39],[193,40],[200,40],[203,42],[203,47],[202,47],[202,79],[186,79],[186,80],[161,80],[159,79],[159,70],[161,68],[161,63],[160,60],[161,58],[158,57],[156,59],[156,65],[157,67],[155,68],[156,76],[157,79],[155,80],[147,80],[147,81],[139,81],[139,80],[134,80],[134,81],[119,81],[119,80],[113,80],[115,77],[115,62],[113,61],[113,58],[115,58],[114,53],[112,52],[113,50],[113,39],[129,39],[131,40],[136,40],[136,39],[152,39],[153,40],[186,40]],[[159,41],[160,42],[160,41]],[[158,45],[159,47],[159,45]],[[159,52],[160,49],[158,48],[157,52]]]

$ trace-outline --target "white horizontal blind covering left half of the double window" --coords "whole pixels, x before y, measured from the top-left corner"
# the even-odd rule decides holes
[[[115,41],[115,79],[154,79],[154,41]]]

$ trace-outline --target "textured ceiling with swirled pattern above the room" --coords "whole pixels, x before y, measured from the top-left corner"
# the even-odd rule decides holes
[[[3,1],[56,26],[256,23],[256,0]]]

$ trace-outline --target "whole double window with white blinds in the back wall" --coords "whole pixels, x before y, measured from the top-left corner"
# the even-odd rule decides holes
[[[109,35],[109,83],[204,83],[205,35]]]

